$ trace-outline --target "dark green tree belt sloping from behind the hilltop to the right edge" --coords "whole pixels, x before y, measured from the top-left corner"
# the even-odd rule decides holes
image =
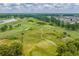
[[[45,22],[49,22],[50,25],[57,25],[60,27],[64,27],[68,30],[77,30],[79,29],[79,23],[78,22],[74,22],[74,23],[70,23],[70,22],[64,22],[61,21],[60,19],[56,19],[54,16],[33,16],[34,18],[37,18],[41,21],[45,21]],[[64,20],[64,19],[63,19]],[[70,21],[72,22],[72,19],[70,19]]]

